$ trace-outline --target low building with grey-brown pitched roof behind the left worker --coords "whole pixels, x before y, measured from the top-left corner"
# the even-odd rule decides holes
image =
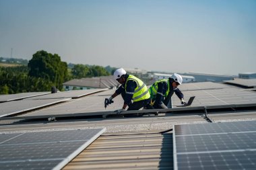
[[[65,91],[76,89],[115,89],[119,83],[113,76],[73,79],[63,83]]]

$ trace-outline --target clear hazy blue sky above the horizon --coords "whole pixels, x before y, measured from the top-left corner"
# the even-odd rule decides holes
[[[0,0],[0,56],[38,50],[83,65],[256,73],[256,1]]]

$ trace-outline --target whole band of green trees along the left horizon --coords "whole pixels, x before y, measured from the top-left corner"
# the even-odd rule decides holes
[[[63,83],[71,79],[107,76],[115,68],[97,65],[72,65],[61,61],[58,54],[40,50],[33,54],[28,65],[0,67],[0,94],[51,91],[51,87],[63,90]]]

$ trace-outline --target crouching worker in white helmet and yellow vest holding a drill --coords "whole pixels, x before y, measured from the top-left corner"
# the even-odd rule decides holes
[[[124,69],[117,69],[114,73],[115,79],[121,86],[115,91],[108,101],[121,94],[124,100],[123,108],[117,110],[118,114],[127,110],[139,110],[150,103],[150,93],[143,81],[133,75],[128,75]]]

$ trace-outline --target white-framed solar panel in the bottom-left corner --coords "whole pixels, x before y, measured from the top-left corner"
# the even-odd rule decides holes
[[[61,169],[104,131],[105,128],[0,134],[0,169]]]

